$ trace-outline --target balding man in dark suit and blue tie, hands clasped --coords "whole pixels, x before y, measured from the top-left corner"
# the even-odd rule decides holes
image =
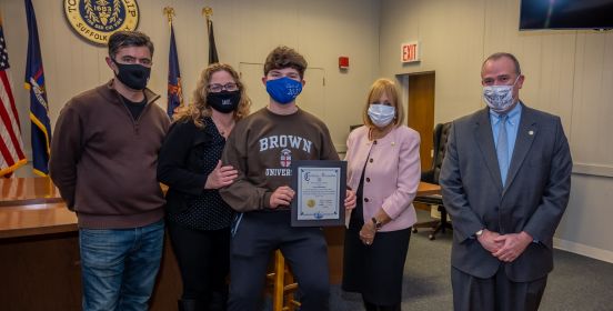
[[[453,121],[440,175],[453,219],[453,305],[537,310],[571,152],[560,118],[520,101],[525,78],[513,54],[490,56],[481,78],[488,107]]]

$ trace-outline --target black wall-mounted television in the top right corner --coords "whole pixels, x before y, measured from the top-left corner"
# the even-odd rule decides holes
[[[613,29],[613,0],[521,0],[520,30]]]

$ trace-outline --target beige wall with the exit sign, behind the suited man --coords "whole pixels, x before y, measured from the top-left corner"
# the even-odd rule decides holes
[[[519,0],[384,0],[380,74],[435,71],[435,122],[483,107],[480,69],[498,51],[514,53],[526,80],[521,98],[562,118],[571,142],[571,202],[559,245],[613,262],[613,33],[520,32]],[[400,44],[419,40],[422,61],[402,66]]]

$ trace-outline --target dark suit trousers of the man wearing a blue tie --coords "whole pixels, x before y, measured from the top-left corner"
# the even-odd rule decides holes
[[[451,268],[455,311],[536,311],[546,283],[547,277],[532,282],[513,282],[506,277],[504,264],[489,279],[475,278]]]

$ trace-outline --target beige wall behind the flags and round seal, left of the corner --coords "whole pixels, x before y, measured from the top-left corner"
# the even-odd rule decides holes
[[[63,1],[32,0],[37,13],[44,77],[52,126],[60,109],[74,94],[108,81],[111,70],[104,62],[107,49],[78,37],[66,21]],[[298,49],[318,68],[316,77],[325,83],[318,88],[316,113],[330,127],[339,151],[344,151],[349,126],[360,122],[356,107],[362,107],[368,87],[379,71],[379,3],[373,0],[140,0],[139,30],[155,44],[154,66],[149,87],[158,91],[165,109],[169,27],[162,9],[174,7],[175,40],[185,99],[191,97],[195,79],[208,62],[204,6],[213,8],[217,48],[220,60],[234,68],[263,63],[279,44]],[[23,124],[23,138],[30,154],[29,96],[23,90],[28,33],[23,1],[0,0],[4,36],[11,63],[13,92]],[[338,58],[350,57],[346,72],[338,69]],[[253,64],[255,63],[255,64]],[[309,70],[306,71],[309,76]],[[261,73],[260,76],[263,76]],[[250,76],[251,77],[251,76]],[[258,79],[245,81],[252,92],[263,92]],[[254,80],[254,81],[253,81]],[[305,92],[310,82],[306,81]],[[313,84],[314,86],[314,84]],[[249,90],[248,89],[248,90]],[[300,102],[300,101],[299,101]],[[255,103],[262,107],[262,103]],[[309,104],[305,103],[306,107]],[[31,175],[29,168],[18,175]]]

